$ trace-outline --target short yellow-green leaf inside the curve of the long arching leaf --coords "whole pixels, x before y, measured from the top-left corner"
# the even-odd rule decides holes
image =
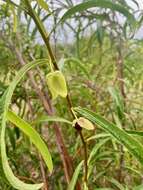
[[[32,141],[32,143],[37,147],[38,151],[41,153],[49,171],[53,170],[53,163],[51,155],[44,141],[41,139],[40,135],[35,131],[35,129],[29,125],[26,121],[17,116],[14,112],[7,112],[7,119],[12,122],[15,126],[20,128]]]

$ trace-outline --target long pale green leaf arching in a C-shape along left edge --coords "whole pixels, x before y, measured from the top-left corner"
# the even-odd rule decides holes
[[[17,86],[17,84],[20,82],[20,80],[24,77],[27,71],[32,69],[33,67],[45,64],[47,63],[47,59],[43,60],[36,60],[33,62],[30,62],[26,64],[22,69],[20,69],[15,76],[14,80],[11,82],[9,88],[5,91],[4,98],[3,98],[3,104],[1,108],[2,118],[1,119],[1,134],[0,134],[0,145],[1,145],[1,159],[2,159],[2,166],[4,174],[9,181],[9,183],[15,188],[19,190],[37,190],[40,189],[43,186],[43,183],[40,184],[27,184],[19,180],[17,177],[14,176],[9,163],[8,158],[6,155],[6,144],[5,144],[5,132],[6,132],[6,121],[7,121],[7,112],[9,109],[9,105],[11,103],[11,98],[13,95],[13,92]]]

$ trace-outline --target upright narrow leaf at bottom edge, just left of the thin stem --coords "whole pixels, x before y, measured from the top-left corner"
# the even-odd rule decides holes
[[[75,189],[75,185],[76,185],[76,182],[77,182],[77,179],[78,179],[82,165],[83,165],[83,161],[81,161],[79,163],[79,165],[76,167],[75,172],[72,176],[72,179],[70,181],[70,184],[68,185],[67,190],[74,190]]]

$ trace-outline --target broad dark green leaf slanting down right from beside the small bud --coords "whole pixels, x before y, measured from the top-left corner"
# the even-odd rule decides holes
[[[113,137],[116,138],[116,140],[123,144],[128,149],[128,151],[138,159],[141,164],[143,164],[143,146],[140,142],[138,142],[124,130],[118,128],[113,123],[104,119],[102,116],[89,111],[88,109],[77,107],[74,108],[74,110],[109,132]]]

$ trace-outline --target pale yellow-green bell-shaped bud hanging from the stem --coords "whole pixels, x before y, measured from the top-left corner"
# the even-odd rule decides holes
[[[63,98],[67,96],[66,80],[61,71],[47,74],[46,79],[49,90],[52,94],[52,99],[57,98],[58,95]]]

